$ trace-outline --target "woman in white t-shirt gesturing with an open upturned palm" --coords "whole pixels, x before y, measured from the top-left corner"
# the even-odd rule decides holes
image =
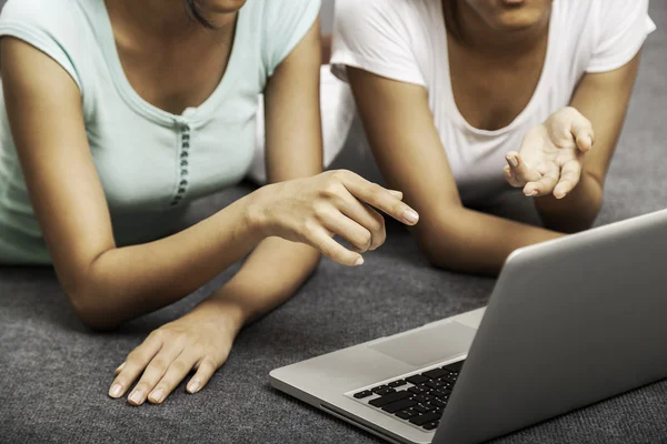
[[[655,29],[648,0],[338,0],[348,80],[388,184],[438,266],[494,274],[589,228]],[[476,212],[509,185],[545,228]]]

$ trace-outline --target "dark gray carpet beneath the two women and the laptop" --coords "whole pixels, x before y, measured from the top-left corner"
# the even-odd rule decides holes
[[[654,0],[651,11],[660,30],[646,47],[599,223],[667,208],[667,3]],[[201,202],[196,213],[243,192],[237,188]],[[499,211],[534,216],[511,200]],[[390,231],[388,244],[360,269],[322,262],[291,301],[241,333],[229,362],[201,393],[186,395],[181,385],[165,405],[138,408],[107,397],[113,369],[211,286],[98,335],[76,319],[52,270],[0,268],[0,442],[379,443],[271,390],[268,373],[486,303],[492,280],[434,270],[406,232]],[[667,382],[497,441],[583,442],[667,443]]]

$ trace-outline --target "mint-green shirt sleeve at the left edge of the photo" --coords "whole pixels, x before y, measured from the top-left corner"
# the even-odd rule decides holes
[[[0,37],[13,37],[37,48],[60,64],[81,89],[67,50],[78,44],[72,20],[71,8],[63,8],[62,1],[10,0],[0,14]]]

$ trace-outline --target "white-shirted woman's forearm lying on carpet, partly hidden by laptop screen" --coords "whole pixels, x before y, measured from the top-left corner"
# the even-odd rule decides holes
[[[563,236],[465,208],[422,219],[419,230],[419,242],[434,265],[492,276],[512,251]]]

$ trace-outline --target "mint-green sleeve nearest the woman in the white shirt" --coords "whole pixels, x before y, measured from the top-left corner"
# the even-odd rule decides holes
[[[312,28],[321,0],[266,0],[265,63],[271,77]]]

